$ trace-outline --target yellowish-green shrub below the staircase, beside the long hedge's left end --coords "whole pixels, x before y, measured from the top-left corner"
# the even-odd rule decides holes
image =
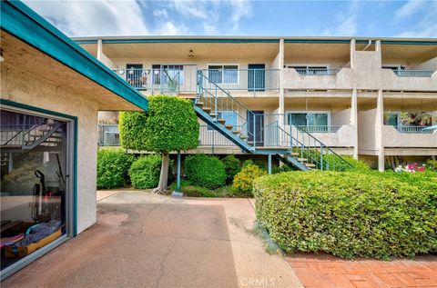
[[[265,174],[267,174],[267,172],[255,164],[244,166],[234,177],[234,181],[232,182],[233,192],[239,195],[251,195],[253,181]]]

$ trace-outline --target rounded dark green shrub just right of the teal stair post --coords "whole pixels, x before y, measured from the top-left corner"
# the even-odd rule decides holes
[[[226,182],[226,173],[219,158],[196,154],[185,160],[185,174],[188,180],[195,185],[215,189]]]

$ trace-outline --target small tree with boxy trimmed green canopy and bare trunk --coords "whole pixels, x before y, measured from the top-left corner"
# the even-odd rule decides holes
[[[198,117],[189,100],[157,95],[148,97],[147,113],[120,114],[120,143],[124,148],[162,155],[156,193],[168,186],[168,161],[172,151],[198,146]]]

